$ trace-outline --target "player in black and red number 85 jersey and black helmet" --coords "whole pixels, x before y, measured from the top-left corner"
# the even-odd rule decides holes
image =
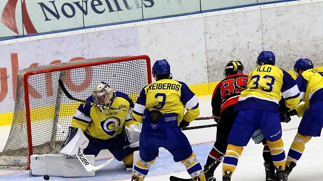
[[[225,79],[221,80],[214,89],[212,96],[212,114],[217,119],[220,118],[217,125],[216,141],[210,151],[206,165],[204,166],[207,181],[215,181],[214,170],[220,164],[227,150],[227,139],[232,128],[235,117],[234,106],[238,102],[241,91],[247,88],[248,75],[243,74],[244,65],[240,61],[229,61],[225,66]],[[255,143],[264,144],[263,157],[265,160],[266,180],[274,180],[274,165],[271,160],[270,150],[263,140],[260,131],[256,131],[253,139]]]

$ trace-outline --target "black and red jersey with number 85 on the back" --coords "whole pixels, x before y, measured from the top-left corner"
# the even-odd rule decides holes
[[[212,114],[220,118],[224,109],[233,111],[241,92],[247,88],[248,75],[234,74],[221,80],[215,87],[212,96]]]

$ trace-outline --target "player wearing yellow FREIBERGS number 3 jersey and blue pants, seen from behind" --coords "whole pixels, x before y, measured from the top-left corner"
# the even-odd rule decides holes
[[[193,180],[205,181],[203,169],[180,130],[199,115],[197,97],[184,82],[172,80],[170,65],[165,59],[154,63],[152,74],[156,82],[143,88],[132,112],[135,120],[143,122],[140,158],[134,166],[132,180],[145,179],[158,156],[158,148],[164,147],[175,162],[185,165]]]

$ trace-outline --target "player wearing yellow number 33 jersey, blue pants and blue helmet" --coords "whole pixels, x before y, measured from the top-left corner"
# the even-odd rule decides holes
[[[279,100],[284,98],[286,106],[293,109],[299,103],[299,90],[291,75],[275,66],[273,52],[261,52],[257,64],[259,66],[249,75],[247,89],[241,92],[235,106],[239,113],[227,140],[229,145],[223,161],[223,181],[231,180],[238,157],[257,129],[267,140],[278,181],[287,180]]]

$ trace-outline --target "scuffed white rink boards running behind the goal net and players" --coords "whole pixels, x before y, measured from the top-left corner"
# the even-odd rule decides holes
[[[322,66],[323,1],[292,1],[130,22],[0,41],[0,124],[14,107],[16,72],[74,59],[148,55],[167,59],[174,79],[198,95],[210,94],[234,59],[248,74],[262,50],[292,70],[298,58]],[[4,121],[3,121],[4,120]]]

